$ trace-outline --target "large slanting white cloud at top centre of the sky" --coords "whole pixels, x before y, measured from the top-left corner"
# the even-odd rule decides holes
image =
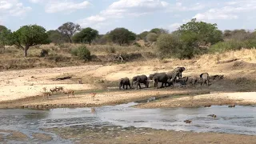
[[[106,10],[99,14],[78,20],[81,26],[105,26],[110,18],[123,18],[125,16],[138,17],[144,14],[165,10],[168,2],[160,0],[119,0],[113,2]],[[103,22],[105,22],[103,24]]]

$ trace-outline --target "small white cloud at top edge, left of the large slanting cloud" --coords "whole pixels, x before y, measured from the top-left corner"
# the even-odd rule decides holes
[[[46,4],[46,13],[57,13],[57,12],[66,12],[70,13],[74,10],[85,9],[90,6],[90,2],[84,1],[75,3],[73,1],[50,1]]]

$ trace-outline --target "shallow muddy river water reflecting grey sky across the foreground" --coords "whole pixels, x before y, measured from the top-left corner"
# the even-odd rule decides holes
[[[221,132],[256,135],[255,106],[211,106],[209,108],[136,109],[136,102],[118,106],[95,108],[60,108],[53,110],[0,110],[1,130],[15,130],[26,134],[30,141],[34,133],[48,134],[51,142],[69,143],[56,134],[42,129],[65,126],[135,126],[165,130]],[[216,114],[216,118],[207,116]],[[192,122],[186,124],[184,120]],[[3,137],[5,139],[7,137]]]

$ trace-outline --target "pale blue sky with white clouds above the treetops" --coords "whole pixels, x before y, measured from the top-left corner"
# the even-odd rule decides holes
[[[56,30],[65,22],[106,34],[125,27],[136,34],[170,31],[189,22],[217,23],[220,30],[256,29],[256,0],[0,0],[0,25],[10,30],[37,24]]]

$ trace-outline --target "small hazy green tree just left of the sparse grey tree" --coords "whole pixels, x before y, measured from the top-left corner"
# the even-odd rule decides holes
[[[50,42],[53,43],[64,43],[64,42],[70,42],[66,36],[63,36],[58,30],[49,30],[47,31],[48,39]]]

